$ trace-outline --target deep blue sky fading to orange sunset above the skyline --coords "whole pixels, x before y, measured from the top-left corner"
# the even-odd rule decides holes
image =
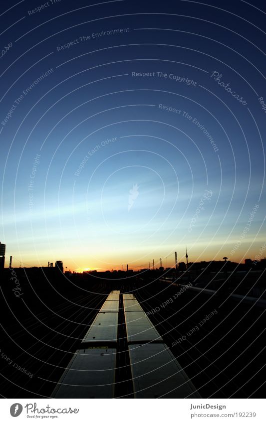
[[[262,1],[1,4],[0,241],[13,266],[255,259]],[[5,266],[8,265],[6,260]]]

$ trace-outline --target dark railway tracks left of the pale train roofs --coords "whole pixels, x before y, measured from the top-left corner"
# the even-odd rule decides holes
[[[43,295],[44,304],[40,301],[33,310],[26,299],[19,308],[17,304],[15,307],[8,292],[1,290],[1,304],[6,315],[6,322],[1,323],[1,353],[7,356],[0,361],[3,398],[49,397],[51,384],[48,381],[60,375],[67,365],[109,288],[102,283],[91,286],[90,290],[87,295],[83,292],[71,295],[71,300],[66,298],[61,303],[59,296],[53,302]],[[18,368],[25,369],[29,375]]]

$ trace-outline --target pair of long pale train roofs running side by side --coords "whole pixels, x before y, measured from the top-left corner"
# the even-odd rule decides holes
[[[134,294],[120,291],[107,297],[51,397],[201,398]]]

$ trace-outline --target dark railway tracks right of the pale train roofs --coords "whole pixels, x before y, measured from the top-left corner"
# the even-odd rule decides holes
[[[155,310],[150,319],[202,397],[258,398],[263,395],[264,310],[236,303],[234,298],[224,302],[223,297],[195,293],[193,289],[161,307],[178,289],[180,287],[169,283],[145,285],[142,281],[136,296],[146,312]],[[199,322],[214,309],[217,313],[200,326]]]

